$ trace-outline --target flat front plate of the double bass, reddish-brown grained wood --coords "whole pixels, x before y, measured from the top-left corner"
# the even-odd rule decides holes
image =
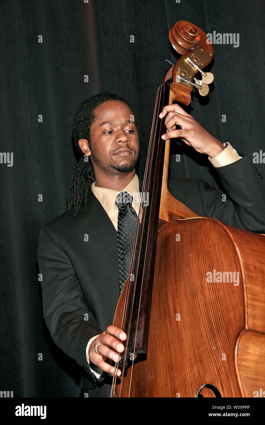
[[[172,254],[175,262],[168,263]],[[159,230],[157,258],[148,337],[152,350],[134,365],[130,396],[194,397],[201,385],[211,384],[222,397],[240,397],[234,352],[245,326],[244,285],[228,232],[213,219],[171,217]],[[239,286],[207,283],[206,273],[213,269],[239,271]],[[115,317],[114,323],[119,321]],[[128,397],[129,379],[130,368],[123,397]]]

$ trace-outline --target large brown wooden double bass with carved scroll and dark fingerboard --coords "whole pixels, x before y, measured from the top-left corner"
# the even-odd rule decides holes
[[[178,21],[169,38],[182,56],[157,91],[142,188],[149,204],[114,317],[127,339],[111,397],[254,397],[265,389],[265,238],[199,217],[168,191],[159,114],[188,105],[194,86],[207,94],[213,80],[202,71],[213,46],[200,28]],[[238,284],[209,282],[213,270],[238,273]]]

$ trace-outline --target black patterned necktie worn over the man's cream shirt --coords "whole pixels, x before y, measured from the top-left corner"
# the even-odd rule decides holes
[[[137,225],[137,213],[132,207],[132,196],[128,192],[123,191],[118,193],[115,204],[119,209],[117,243],[121,293],[130,273],[131,255]]]

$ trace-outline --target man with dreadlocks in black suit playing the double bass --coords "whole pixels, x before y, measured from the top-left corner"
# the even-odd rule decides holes
[[[55,343],[89,373],[80,388],[92,388],[94,380],[89,397],[109,396],[110,363],[120,359],[124,345],[119,339],[126,339],[111,323],[121,284],[117,198],[121,192],[132,195],[128,214],[133,220],[140,207],[135,193],[142,189],[135,172],[139,143],[133,117],[130,105],[115,94],[98,94],[80,105],[73,137],[83,156],[71,178],[68,211],[40,233],[43,314]],[[168,133],[162,138],[181,138],[207,154],[228,199],[222,202],[221,190],[195,179],[169,181],[171,193],[199,215],[265,232],[265,190],[250,157],[239,157],[179,105],[165,106],[163,117]]]

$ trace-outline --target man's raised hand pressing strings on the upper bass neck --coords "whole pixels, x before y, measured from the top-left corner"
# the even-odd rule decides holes
[[[222,152],[222,142],[211,136],[177,103],[164,106],[159,117],[165,117],[165,126],[168,129],[168,132],[162,135],[162,139],[182,139],[183,142],[194,147],[197,152],[205,153],[210,158],[214,158]],[[181,128],[177,129],[177,126]]]

